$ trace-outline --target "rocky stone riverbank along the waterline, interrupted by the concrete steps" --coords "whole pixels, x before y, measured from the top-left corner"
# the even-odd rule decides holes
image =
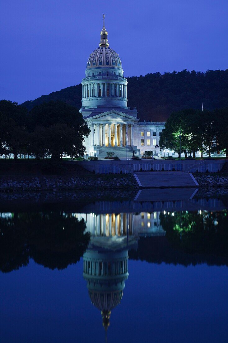
[[[178,172],[165,172],[175,176]],[[180,173],[180,172],[179,172]],[[160,172],[157,172],[160,174]],[[161,177],[164,172],[161,172]],[[181,173],[182,174],[182,173]],[[154,174],[155,175],[155,174]],[[140,177],[143,178],[143,172]],[[159,176],[159,175],[158,175]],[[153,178],[153,172],[151,172]],[[200,188],[228,188],[227,173],[194,174]],[[150,188],[150,185],[148,186]],[[159,180],[154,187],[161,187]],[[164,186],[163,186],[164,187]],[[180,187],[186,187],[183,185]],[[94,190],[94,189],[138,189],[140,188],[133,174],[71,174],[71,175],[1,175],[0,191],[40,191],[40,190]]]

